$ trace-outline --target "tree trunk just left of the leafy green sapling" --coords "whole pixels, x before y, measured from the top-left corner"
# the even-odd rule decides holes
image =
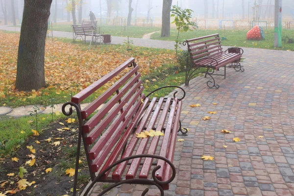
[[[171,6],[172,0],[163,0],[161,37],[170,37],[171,35]]]

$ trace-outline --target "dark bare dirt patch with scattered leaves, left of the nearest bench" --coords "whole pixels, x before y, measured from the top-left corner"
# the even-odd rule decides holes
[[[64,123],[64,125],[60,124]],[[73,176],[66,175],[66,170],[73,168],[76,155],[77,144],[77,123],[66,123],[64,120],[55,122],[52,126],[43,130],[39,136],[32,136],[27,139],[12,157],[0,159],[0,193],[14,190],[14,196],[62,196],[71,195],[73,187]],[[68,130],[67,130],[68,129]],[[46,141],[51,138],[51,141]],[[40,144],[36,143],[36,140]],[[54,142],[57,142],[53,144]],[[58,143],[60,142],[60,144]],[[56,146],[55,146],[56,145]],[[36,150],[32,153],[29,148],[32,146]],[[35,156],[35,164],[30,167],[26,162],[32,160]],[[82,155],[84,153],[82,152]],[[18,162],[12,161],[17,157]],[[82,163],[79,166],[78,189],[83,190],[89,181],[89,171],[86,157],[80,157]],[[18,182],[20,177],[20,167],[26,169],[23,179],[34,184],[20,190]],[[52,168],[52,171],[46,173],[46,169]],[[14,173],[14,176],[7,176],[8,173]],[[7,193],[9,195],[9,193]]]

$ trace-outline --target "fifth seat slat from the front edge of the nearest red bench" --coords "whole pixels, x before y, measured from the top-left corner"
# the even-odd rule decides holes
[[[146,123],[152,113],[152,110],[155,106],[155,103],[156,103],[156,98],[152,98],[143,118],[141,119],[137,129],[136,129],[136,132],[135,133],[141,133],[143,128],[146,126]],[[139,141],[139,138],[136,137],[136,134],[134,133],[134,135],[132,136],[130,142],[128,143],[127,147],[125,148],[125,151],[123,153],[123,156],[122,158],[125,158],[125,157],[129,157],[132,155],[138,141]],[[113,180],[121,180],[121,177],[123,175],[123,172],[125,170],[127,166],[127,162],[124,162],[124,163],[121,163],[117,166],[117,168],[115,169],[115,171],[113,172],[112,174],[112,179]]]

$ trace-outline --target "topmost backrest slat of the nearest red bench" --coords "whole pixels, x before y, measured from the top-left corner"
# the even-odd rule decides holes
[[[90,96],[92,93],[94,93],[96,90],[98,90],[101,86],[103,86],[106,82],[110,81],[114,76],[116,76],[118,73],[121,73],[127,66],[134,63],[135,58],[130,58],[129,60],[125,61],[122,65],[115,68],[110,73],[107,73],[103,77],[101,77],[98,81],[94,82],[87,88],[85,88],[83,91],[79,92],[75,96],[72,97],[72,101],[74,103],[80,103],[82,100]]]

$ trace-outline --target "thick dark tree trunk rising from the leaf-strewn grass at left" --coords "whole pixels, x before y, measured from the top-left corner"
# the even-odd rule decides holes
[[[51,3],[52,0],[25,0],[15,82],[19,91],[45,86],[45,42]]]

